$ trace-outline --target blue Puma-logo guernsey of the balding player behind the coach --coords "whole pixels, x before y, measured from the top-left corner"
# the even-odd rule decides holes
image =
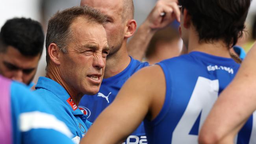
[[[119,74],[102,80],[100,91],[94,96],[85,95],[79,103],[79,108],[88,114],[88,120],[93,122],[97,116],[113,102],[122,85],[132,74],[148,66],[131,57],[130,64]],[[147,144],[143,123],[132,133],[123,144]]]

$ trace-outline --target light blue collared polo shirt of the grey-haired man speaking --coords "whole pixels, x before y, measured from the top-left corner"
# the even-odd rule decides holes
[[[69,127],[73,134],[72,141],[78,144],[92,124],[87,120],[87,115],[78,109],[68,92],[56,81],[39,77],[35,89],[54,115]]]

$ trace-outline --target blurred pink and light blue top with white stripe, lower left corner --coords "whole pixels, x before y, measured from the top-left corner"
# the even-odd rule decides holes
[[[0,76],[1,144],[72,144],[72,133],[27,86]]]

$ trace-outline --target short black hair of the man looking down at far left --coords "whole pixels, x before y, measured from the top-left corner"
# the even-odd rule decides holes
[[[13,46],[22,55],[42,54],[44,32],[39,22],[30,18],[13,18],[6,21],[0,32],[0,52]]]

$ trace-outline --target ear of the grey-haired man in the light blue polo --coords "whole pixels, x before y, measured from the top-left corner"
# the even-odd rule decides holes
[[[59,60],[59,56],[61,51],[59,50],[59,47],[55,44],[55,43],[51,43],[48,47],[48,55],[50,57],[50,60],[56,64],[56,65],[60,65],[60,60]]]

